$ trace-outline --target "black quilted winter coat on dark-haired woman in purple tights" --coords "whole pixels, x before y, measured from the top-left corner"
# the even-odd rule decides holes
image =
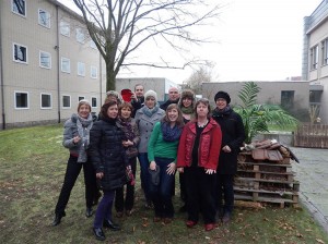
[[[124,132],[116,125],[117,120],[102,118],[90,131],[90,157],[96,173],[103,172],[101,188],[113,191],[127,183],[128,159],[122,141]]]

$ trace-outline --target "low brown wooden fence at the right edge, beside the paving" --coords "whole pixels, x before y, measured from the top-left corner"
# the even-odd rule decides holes
[[[295,147],[328,148],[328,124],[298,125],[294,133]]]

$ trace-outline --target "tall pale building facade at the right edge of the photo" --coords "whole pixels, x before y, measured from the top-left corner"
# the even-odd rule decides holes
[[[304,17],[302,78],[308,81],[309,103],[328,123],[328,0]]]

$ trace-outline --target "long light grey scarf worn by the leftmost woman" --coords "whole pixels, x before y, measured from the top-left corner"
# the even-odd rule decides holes
[[[81,143],[79,144],[79,158],[78,162],[86,162],[87,155],[86,149],[90,143],[90,130],[93,125],[93,120],[91,113],[86,119],[80,117],[79,114],[74,114],[77,117],[77,127],[78,133],[81,138]],[[73,117],[73,115],[72,115]]]

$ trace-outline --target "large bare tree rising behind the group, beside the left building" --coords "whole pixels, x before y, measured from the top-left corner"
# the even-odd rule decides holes
[[[200,44],[206,37],[191,35],[197,25],[219,16],[220,5],[209,7],[207,0],[73,0],[83,14],[89,34],[106,63],[106,89],[115,89],[115,78],[121,66],[148,65],[164,69],[184,69],[197,60],[187,60],[180,66],[167,60],[127,62],[140,46],[160,38],[172,48],[186,50],[186,42]]]

